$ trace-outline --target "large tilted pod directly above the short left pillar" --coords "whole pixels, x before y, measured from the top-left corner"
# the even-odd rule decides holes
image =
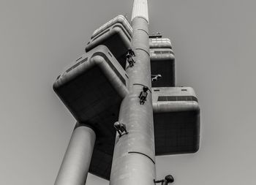
[[[94,124],[111,106],[120,105],[128,92],[127,80],[110,50],[99,45],[67,67],[53,89],[80,123]]]

